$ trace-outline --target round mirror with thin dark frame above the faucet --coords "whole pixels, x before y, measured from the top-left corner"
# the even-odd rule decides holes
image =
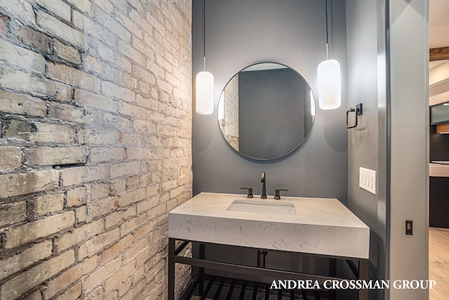
[[[229,80],[217,115],[222,135],[234,150],[253,159],[275,159],[307,138],[314,124],[315,100],[295,70],[259,63]]]

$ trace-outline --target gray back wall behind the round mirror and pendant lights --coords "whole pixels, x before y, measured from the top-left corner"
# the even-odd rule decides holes
[[[193,1],[194,74],[203,67],[202,3]],[[216,107],[222,89],[236,72],[261,62],[282,63],[309,82],[315,95],[316,67],[326,58],[325,1],[206,1],[206,69],[215,77],[213,115],[193,115],[193,192],[242,193],[242,186],[261,192],[260,172],[267,173],[267,194],[335,197],[347,202],[347,129],[342,107],[317,109],[311,134],[282,159],[262,162],[239,155],[220,133]],[[346,78],[344,1],[333,1],[330,13],[330,57],[340,60]],[[317,105],[318,107],[318,105]]]

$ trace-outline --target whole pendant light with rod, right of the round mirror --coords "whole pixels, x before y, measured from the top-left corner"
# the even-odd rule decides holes
[[[342,103],[340,63],[329,59],[328,0],[326,0],[326,60],[318,65],[318,96],[321,110],[333,110]]]

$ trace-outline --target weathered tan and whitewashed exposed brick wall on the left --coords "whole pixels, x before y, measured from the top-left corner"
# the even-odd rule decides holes
[[[0,299],[166,298],[168,211],[192,196],[191,10],[0,0]]]

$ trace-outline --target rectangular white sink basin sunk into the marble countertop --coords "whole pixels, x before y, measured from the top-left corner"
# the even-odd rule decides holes
[[[259,214],[296,214],[295,205],[293,205],[293,203],[266,200],[234,200],[227,210]]]

